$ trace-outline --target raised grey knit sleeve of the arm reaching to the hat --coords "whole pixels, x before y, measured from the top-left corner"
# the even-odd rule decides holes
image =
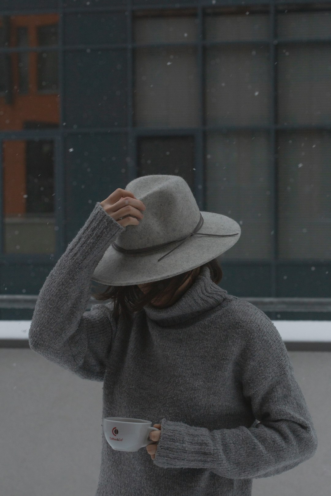
[[[93,272],[124,230],[97,202],[47,276],[32,315],[31,350],[82,378],[104,379],[116,324],[108,304],[84,310]]]

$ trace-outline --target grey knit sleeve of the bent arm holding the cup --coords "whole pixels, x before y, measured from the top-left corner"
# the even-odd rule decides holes
[[[156,465],[259,479],[290,470],[315,454],[316,431],[286,347],[271,320],[254,309],[242,346],[242,389],[260,423],[210,431],[164,418]]]

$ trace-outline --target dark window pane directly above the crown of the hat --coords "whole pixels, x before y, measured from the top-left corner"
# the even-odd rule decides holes
[[[181,176],[194,190],[195,142],[193,136],[140,137],[137,143],[137,176]]]

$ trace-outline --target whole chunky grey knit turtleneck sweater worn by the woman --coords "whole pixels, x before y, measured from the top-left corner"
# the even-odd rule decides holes
[[[33,351],[103,381],[102,417],[161,424],[146,448],[113,450],[102,431],[95,496],[250,496],[252,480],[310,459],[317,435],[285,345],[262,310],[214,284],[203,267],[166,309],[114,321],[92,306],[91,276],[125,228],[99,202],[40,291]]]

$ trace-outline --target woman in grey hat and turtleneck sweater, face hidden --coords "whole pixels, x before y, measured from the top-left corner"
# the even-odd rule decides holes
[[[278,331],[217,285],[215,258],[240,234],[233,219],[200,212],[180,176],[143,176],[96,203],[45,281],[31,349],[104,381],[103,418],[160,427],[135,452],[102,436],[96,496],[250,496],[254,478],[316,452]],[[91,278],[112,301],[84,311]]]

